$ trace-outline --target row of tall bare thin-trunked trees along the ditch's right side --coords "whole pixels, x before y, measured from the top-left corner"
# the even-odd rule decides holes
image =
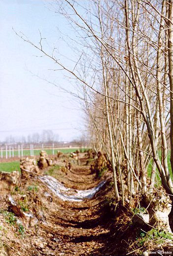
[[[39,45],[18,35],[82,89],[77,96],[93,147],[111,162],[115,198],[123,205],[137,194],[150,199],[158,171],[173,200],[173,1],[63,0],[54,8],[74,30],[74,68],[45,52],[41,35]]]

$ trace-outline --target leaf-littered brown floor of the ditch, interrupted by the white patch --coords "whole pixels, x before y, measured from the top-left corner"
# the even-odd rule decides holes
[[[91,175],[89,167],[76,166],[72,171],[60,179],[66,188],[88,190],[101,181]],[[46,223],[42,223],[40,236],[46,238],[47,248],[41,249],[40,255],[76,255],[76,256],[105,256],[110,255],[108,242],[110,239],[109,227],[106,226],[106,212],[104,196],[108,188],[106,184],[92,199],[82,202],[63,201],[58,197],[46,214]],[[38,248],[35,253],[38,253]]]

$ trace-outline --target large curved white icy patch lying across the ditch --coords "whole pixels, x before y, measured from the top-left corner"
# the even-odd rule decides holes
[[[87,190],[72,190],[66,188],[61,182],[57,179],[45,175],[44,177],[39,177],[39,179],[47,185],[47,187],[55,193],[63,201],[72,201],[72,202],[82,202],[84,199],[91,199],[105,184],[106,181],[102,181],[95,188]],[[69,193],[68,193],[69,192]],[[72,193],[70,195],[70,193]]]

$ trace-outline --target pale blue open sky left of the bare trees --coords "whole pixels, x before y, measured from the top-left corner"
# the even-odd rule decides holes
[[[27,136],[32,132],[52,129],[61,140],[80,136],[82,111],[72,96],[63,93],[34,73],[62,87],[74,90],[62,71],[51,71],[55,64],[40,55],[29,44],[15,35],[23,32],[35,43],[41,31],[46,51],[55,46],[72,57],[57,30],[57,26],[70,35],[66,21],[50,11],[42,0],[0,0],[0,140],[6,136]],[[66,58],[62,62],[70,65]],[[80,125],[79,125],[80,124]],[[77,128],[77,130],[76,130]]]

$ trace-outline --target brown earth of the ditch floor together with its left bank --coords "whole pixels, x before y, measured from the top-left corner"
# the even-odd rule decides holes
[[[64,165],[62,161],[62,166]],[[52,168],[55,168],[54,170]],[[49,167],[45,173],[52,171],[67,188],[86,190],[97,186],[103,179],[104,187],[92,199],[82,202],[63,201],[55,196],[43,183],[34,176],[21,180],[12,198],[28,208],[35,216],[16,217],[22,221],[24,234],[18,226],[10,224],[6,213],[9,211],[6,191],[0,195],[0,256],[115,256],[125,255],[127,243],[114,235],[122,229],[123,221],[113,216],[109,199],[113,195],[111,175],[106,174],[96,179],[86,165],[72,165],[68,173],[61,168]],[[21,203],[22,202],[22,203]],[[126,216],[129,220],[130,217]],[[38,222],[36,223],[36,221]],[[116,233],[118,236],[118,233]]]

